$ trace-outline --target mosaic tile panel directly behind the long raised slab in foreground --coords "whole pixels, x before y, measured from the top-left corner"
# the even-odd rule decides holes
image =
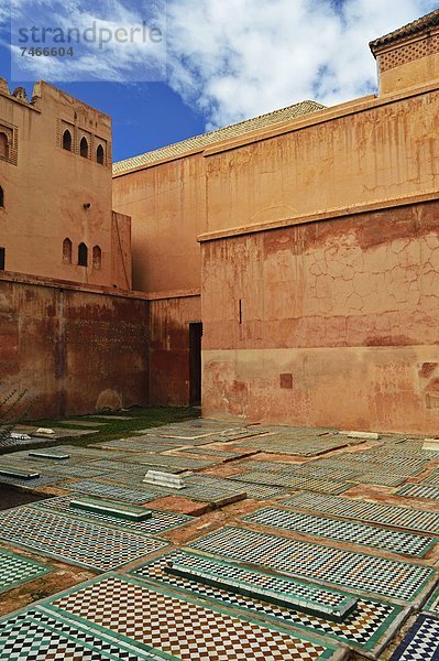
[[[414,599],[436,574],[435,570],[407,562],[232,527],[221,528],[189,548],[406,602]]]

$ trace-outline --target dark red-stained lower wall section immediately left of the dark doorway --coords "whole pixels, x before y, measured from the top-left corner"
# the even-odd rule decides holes
[[[189,323],[200,319],[199,295],[150,302],[151,404],[189,404]]]

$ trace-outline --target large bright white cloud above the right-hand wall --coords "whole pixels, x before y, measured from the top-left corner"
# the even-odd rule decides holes
[[[169,83],[224,126],[308,98],[334,105],[376,84],[369,41],[431,11],[429,0],[174,0]]]

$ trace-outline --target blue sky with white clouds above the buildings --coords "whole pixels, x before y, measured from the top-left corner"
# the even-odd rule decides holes
[[[438,6],[433,0],[12,0],[10,8],[0,0],[0,76],[29,93],[33,80],[44,78],[111,115],[114,160],[121,160],[307,98],[330,106],[370,94],[376,72],[369,41]],[[94,23],[113,34],[143,24],[160,30],[161,43],[146,43],[143,35],[142,43],[135,37],[102,47],[75,44],[70,58],[26,54],[20,59],[19,29]]]

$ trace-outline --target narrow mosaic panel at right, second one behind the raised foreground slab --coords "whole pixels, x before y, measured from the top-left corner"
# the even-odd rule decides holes
[[[292,512],[275,507],[266,507],[243,518],[243,521],[271,525],[282,530],[293,530],[304,534],[323,537],[352,544],[363,544],[373,549],[383,549],[392,553],[422,557],[436,543],[437,539],[386,530],[352,521],[338,521],[326,517]]]

